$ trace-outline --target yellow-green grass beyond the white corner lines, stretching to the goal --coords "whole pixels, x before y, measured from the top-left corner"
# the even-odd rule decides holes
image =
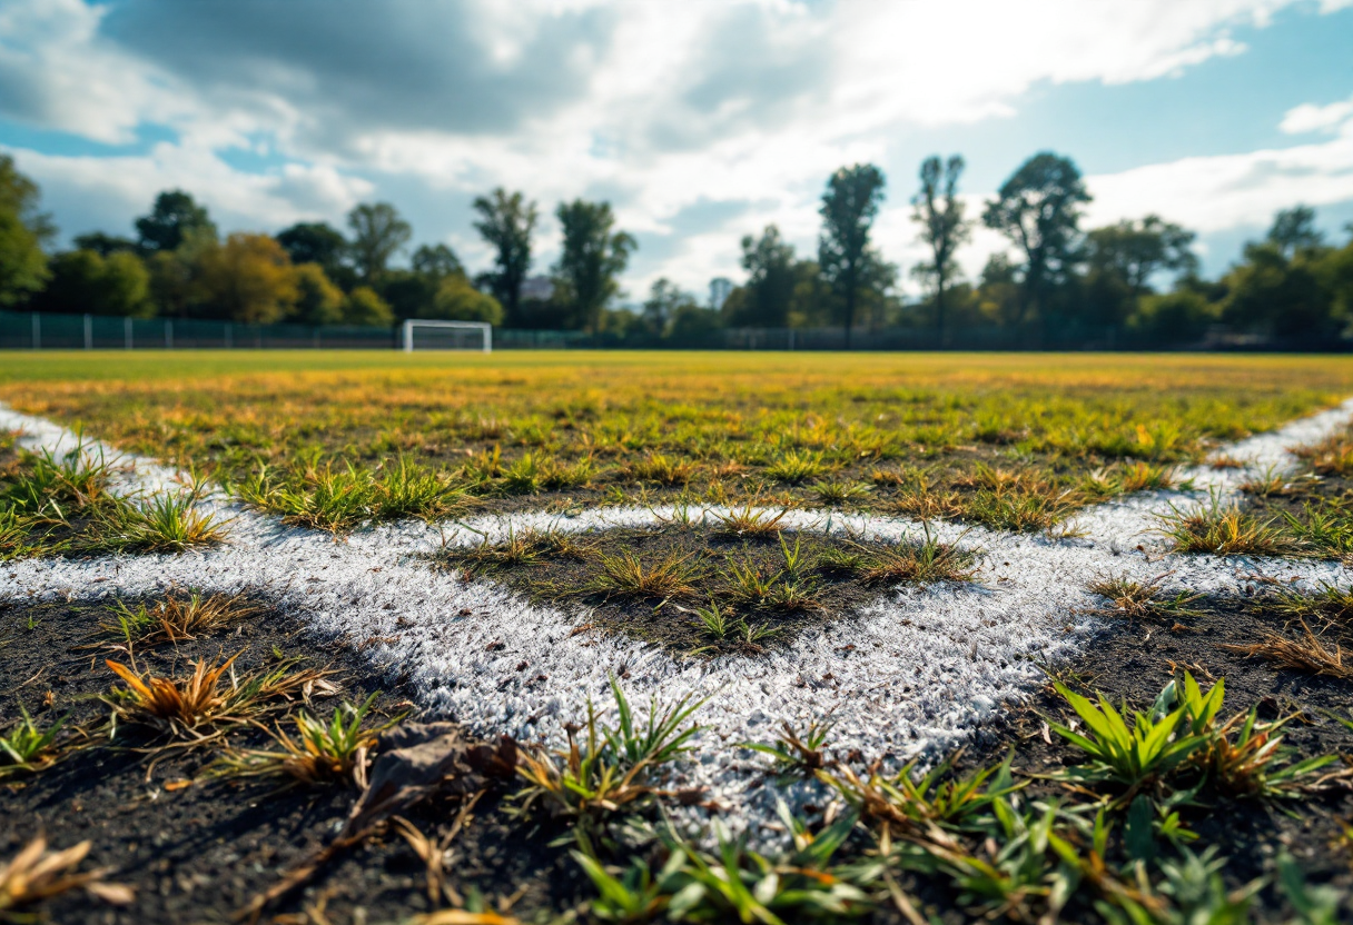
[[[14,354],[0,400],[331,530],[700,502],[1039,530],[1353,391],[1353,360],[1123,354]]]

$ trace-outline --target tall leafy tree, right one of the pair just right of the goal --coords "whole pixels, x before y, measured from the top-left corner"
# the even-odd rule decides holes
[[[629,254],[639,246],[625,231],[614,231],[616,216],[610,203],[587,203],[575,199],[555,210],[564,230],[564,247],[555,264],[555,276],[563,284],[564,299],[572,304],[574,316],[593,334],[601,331],[602,311],[617,292],[629,264]]]

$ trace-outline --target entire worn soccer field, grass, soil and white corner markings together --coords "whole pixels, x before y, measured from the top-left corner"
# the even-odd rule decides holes
[[[429,925],[644,921],[710,865],[783,921],[1184,921],[1138,868],[1174,841],[1234,852],[1187,875],[1216,907],[1264,852],[1342,884],[1350,395],[1344,357],[9,354],[0,806],[133,859],[127,916],[200,902],[166,851],[283,916],[448,878]],[[571,853],[629,840],[671,871]]]

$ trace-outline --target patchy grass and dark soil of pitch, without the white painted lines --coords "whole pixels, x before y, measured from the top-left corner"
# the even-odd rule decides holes
[[[329,530],[681,500],[1030,530],[1169,487],[1176,464],[1215,444],[1342,399],[1350,372],[1272,357],[74,354],[7,362],[0,400]],[[1346,561],[1349,441],[1311,448],[1308,471],[1246,483],[1234,507],[1214,496],[1166,518],[1177,550]],[[142,521],[104,499],[101,465],[18,452],[4,434],[0,462],[0,553],[161,548],[123,545],[123,521]],[[636,615],[671,609],[651,641],[748,659],[816,611],[970,577],[973,561],[928,529],[912,546],[838,542],[785,517],[748,506],[700,527],[509,533],[441,559],[580,600],[598,627],[633,632]],[[180,527],[165,518],[152,533]],[[1168,575],[1095,580],[1095,613],[1118,619],[1050,665],[1057,683],[1032,703],[978,730],[969,755],[925,774],[885,767],[848,729],[838,737],[836,706],[782,734],[714,741],[691,694],[632,709],[628,668],[612,678],[614,718],[590,702],[555,717],[567,748],[472,742],[377,696],[360,653],[394,637],[319,638],[267,600],[191,588],[4,600],[0,678],[15,680],[0,694],[19,711],[0,721],[0,797],[18,824],[0,833],[0,918],[74,921],[83,887],[129,925],[202,913],[365,922],[372,909],[422,925],[1346,921],[1348,590],[1312,595],[1254,573],[1231,599],[1166,591]],[[413,626],[390,617],[391,632]],[[311,660],[326,648],[336,661]],[[487,671],[503,642],[483,648]],[[796,688],[835,684],[855,649],[833,648],[840,667],[800,672]],[[976,640],[969,652],[978,661]],[[498,691],[549,680],[528,667]],[[388,794],[382,763],[425,746],[438,756],[423,761],[430,782],[368,799]],[[736,838],[721,817],[741,807],[671,788],[668,772],[718,749],[786,797],[783,844]],[[398,815],[376,818],[376,803]],[[664,822],[678,807],[709,813],[704,840]],[[357,818],[375,821],[353,834]],[[73,847],[47,852],[45,832]],[[87,855],[99,867],[77,871]],[[120,865],[118,882],[100,879],[104,865]]]

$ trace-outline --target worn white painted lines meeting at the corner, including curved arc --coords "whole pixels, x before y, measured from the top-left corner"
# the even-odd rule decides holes
[[[1350,417],[1353,400],[1226,448],[1227,456],[1249,461],[1243,469],[1185,475],[1199,490],[1233,498],[1256,472],[1292,468],[1287,448],[1318,441]],[[4,407],[0,429],[22,430],[20,444],[30,449],[77,445],[65,429]],[[134,458],[119,490],[157,491],[176,477]],[[203,503],[235,518],[219,548],[9,563],[0,567],[0,598],[99,599],[173,586],[260,590],[322,632],[369,642],[369,657],[407,675],[429,710],[483,734],[557,741],[560,724],[582,715],[589,696],[609,701],[612,675],[637,698],[708,696],[700,719],[709,729],[681,774],[690,786],[709,787],[714,799],[743,807],[741,822],[770,821],[774,795],[748,788],[756,779],[748,774],[752,761],[729,742],[767,740],[782,719],[804,724],[829,713],[842,749],[907,759],[950,748],[1030,690],[1038,678],[1031,657],[1069,657],[1097,629],[1085,613],[1096,603],[1085,590],[1095,576],[1149,580],[1170,572],[1170,584],[1201,592],[1237,591],[1256,573],[1306,587],[1350,577],[1334,563],[1164,554],[1153,534],[1158,515],[1200,503],[1200,492],[1145,492],[1081,511],[1073,522],[1078,536],[1069,540],[935,525],[942,540],[981,549],[976,584],[896,591],[759,659],[678,660],[632,640],[575,634],[580,618],[533,606],[490,582],[432,569],[425,559],[444,541],[478,542],[526,526],[643,526],[672,518],[671,508],[514,514],[446,525],[445,536],[423,523],[395,523],[336,540],[285,527],[221,495]],[[717,513],[686,511],[695,518]],[[921,529],[898,518],[808,511],[790,511],[785,522],[893,541]]]

